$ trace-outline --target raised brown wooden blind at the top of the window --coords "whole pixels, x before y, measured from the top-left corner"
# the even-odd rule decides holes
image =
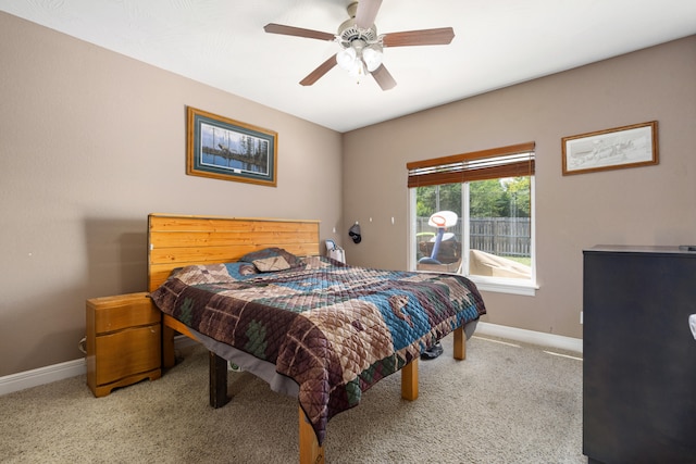
[[[424,187],[534,175],[535,142],[518,143],[406,164],[408,186]]]

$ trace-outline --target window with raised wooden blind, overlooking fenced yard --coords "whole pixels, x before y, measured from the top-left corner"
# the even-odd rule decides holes
[[[534,142],[407,164],[411,268],[534,294]]]

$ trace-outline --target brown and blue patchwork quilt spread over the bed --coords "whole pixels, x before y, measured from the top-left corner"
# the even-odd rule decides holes
[[[356,406],[363,391],[486,312],[463,276],[320,256],[273,272],[251,263],[187,266],[151,296],[188,327],[297,381],[320,444],[328,419]]]

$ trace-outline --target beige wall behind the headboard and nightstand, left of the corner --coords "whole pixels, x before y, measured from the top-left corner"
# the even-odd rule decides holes
[[[338,133],[5,13],[0,84],[0,376],[80,358],[85,299],[146,289],[150,212],[341,238]],[[187,176],[186,105],[276,130],[277,188]]]

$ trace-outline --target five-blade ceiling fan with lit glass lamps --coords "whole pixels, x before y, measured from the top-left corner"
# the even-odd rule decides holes
[[[300,80],[303,86],[311,86],[338,64],[358,80],[371,74],[382,90],[389,90],[396,86],[396,80],[382,64],[383,48],[447,45],[455,38],[455,30],[451,27],[440,27],[377,35],[374,20],[381,5],[382,0],[360,0],[360,2],[350,3],[347,9],[350,18],[338,26],[338,34],[335,35],[273,23],[266,24],[263,30],[285,36],[330,40],[340,46],[336,54]]]

